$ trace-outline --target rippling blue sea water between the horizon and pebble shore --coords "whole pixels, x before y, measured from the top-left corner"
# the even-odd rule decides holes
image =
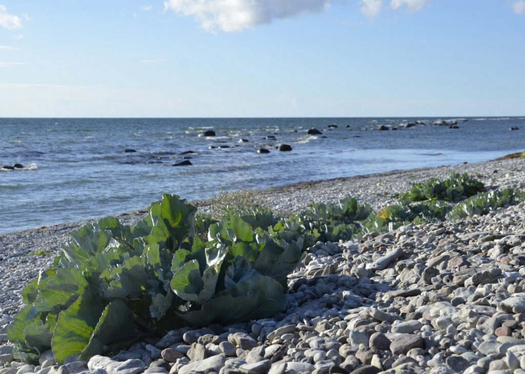
[[[434,125],[441,120],[454,119],[0,118],[0,167],[24,166],[0,169],[0,233],[131,212],[163,193],[193,201],[219,190],[485,161],[525,148],[525,117],[459,118],[457,129]],[[416,121],[423,124],[403,127]],[[309,128],[323,134],[309,136]],[[216,136],[198,136],[207,129]],[[212,148],[219,146],[229,148]],[[192,166],[172,166],[184,157]]]

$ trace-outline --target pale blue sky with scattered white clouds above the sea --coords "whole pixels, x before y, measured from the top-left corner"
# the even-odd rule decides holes
[[[0,117],[525,115],[525,0],[0,0]]]

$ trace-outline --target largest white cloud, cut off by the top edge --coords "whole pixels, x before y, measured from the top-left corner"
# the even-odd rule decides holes
[[[207,31],[226,32],[269,24],[274,19],[301,13],[322,12],[331,0],[169,0],[164,12],[172,9],[183,16],[193,16]]]

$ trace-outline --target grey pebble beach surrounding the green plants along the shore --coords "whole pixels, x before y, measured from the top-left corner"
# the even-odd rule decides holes
[[[520,158],[392,171],[261,191],[272,211],[354,197],[374,210],[432,177],[469,173],[488,190],[525,188]],[[184,197],[184,196],[181,196]],[[200,210],[208,202],[196,202]],[[363,240],[318,243],[289,276],[285,313],[171,331],[111,357],[44,353],[13,361],[7,326],[25,283],[89,221],[0,235],[0,374],[525,373],[525,205],[461,221],[402,226]],[[123,214],[123,223],[143,211]]]

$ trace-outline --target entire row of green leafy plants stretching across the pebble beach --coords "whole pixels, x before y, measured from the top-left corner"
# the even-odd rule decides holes
[[[71,233],[54,267],[26,285],[8,338],[19,359],[34,361],[52,349],[60,363],[183,324],[268,317],[285,309],[287,276],[317,241],[486,214],[525,200],[517,190],[479,191],[479,181],[453,174],[416,185],[379,212],[350,198],[287,218],[250,205],[251,193],[228,195],[222,216],[197,214],[185,200],[164,195],[134,226],[108,217]]]

